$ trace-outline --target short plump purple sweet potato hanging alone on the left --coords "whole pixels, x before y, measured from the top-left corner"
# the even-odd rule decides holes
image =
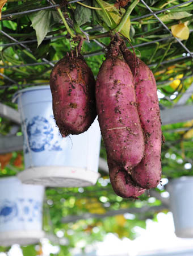
[[[96,117],[95,80],[81,55],[66,55],[51,73],[53,114],[62,137],[89,129]]]

